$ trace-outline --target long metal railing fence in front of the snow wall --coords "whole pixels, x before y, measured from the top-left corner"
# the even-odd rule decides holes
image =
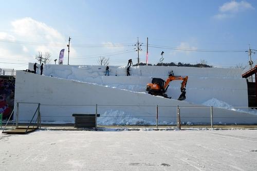
[[[31,119],[33,111],[38,104],[17,103],[16,125],[18,122],[26,122]],[[22,105],[21,105],[22,104]],[[27,108],[24,110],[23,108]],[[256,116],[230,115],[223,116],[215,111],[221,109],[218,107],[203,106],[162,106],[162,105],[109,105],[109,104],[92,104],[92,105],[58,105],[58,104],[39,104],[39,121],[43,123],[74,123],[72,113],[90,113],[96,115],[96,126],[99,125],[154,125],[156,128],[160,125],[174,125],[181,128],[181,125],[203,124],[213,128],[214,124],[226,124],[217,122],[218,119],[227,121],[240,118],[242,120],[256,120]],[[133,110],[132,110],[133,108]],[[233,107],[234,109],[249,109],[250,107]],[[251,107],[252,108],[252,107]],[[188,112],[190,110],[190,112]],[[31,111],[30,114],[28,114]],[[53,112],[49,112],[53,111]],[[58,112],[57,112],[58,111]],[[133,111],[133,112],[130,112]],[[165,112],[164,112],[165,111]],[[168,114],[167,114],[167,111]],[[229,111],[229,110],[228,110]],[[257,110],[256,110],[257,111]],[[246,111],[240,111],[246,113]],[[192,116],[190,113],[193,113]],[[196,114],[195,114],[196,113]],[[257,113],[257,112],[256,112]],[[100,118],[97,118],[100,114]],[[24,119],[26,118],[27,119]],[[187,123],[187,120],[192,122]],[[205,121],[204,123],[199,121]],[[216,120],[216,122],[215,122]],[[198,122],[197,122],[198,121]],[[255,123],[257,124],[257,122]]]

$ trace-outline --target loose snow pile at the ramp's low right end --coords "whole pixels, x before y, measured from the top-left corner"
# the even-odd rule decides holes
[[[243,108],[243,107],[242,108],[240,108],[240,107],[235,108],[235,107],[232,107],[231,105],[229,105],[228,103],[223,102],[223,101],[218,100],[218,99],[215,99],[215,98],[212,98],[212,99],[204,102],[203,105],[213,106],[213,107],[218,107],[218,108],[224,108],[224,109],[238,111],[238,112],[247,112],[247,113],[257,115],[257,110],[256,109]]]

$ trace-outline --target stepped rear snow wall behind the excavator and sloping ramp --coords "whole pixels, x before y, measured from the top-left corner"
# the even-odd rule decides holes
[[[231,106],[248,106],[246,79],[239,68],[195,68],[164,66],[132,66],[131,77],[126,77],[127,66],[109,66],[110,76],[104,76],[105,66],[45,65],[44,75],[96,83],[136,92],[146,92],[145,86],[152,78],[167,80],[169,71],[175,75],[188,76],[187,102],[203,104],[215,98]],[[29,69],[33,64],[29,64]],[[117,76],[115,76],[117,75]],[[181,81],[172,81],[167,90],[169,97],[180,95]]]

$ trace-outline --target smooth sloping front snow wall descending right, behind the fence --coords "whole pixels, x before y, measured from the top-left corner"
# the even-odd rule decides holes
[[[16,72],[16,102],[40,103],[42,122],[71,123],[72,113],[95,113],[97,108],[98,123],[102,125],[155,124],[158,105],[159,124],[174,124],[179,105],[183,106],[182,122],[210,123],[210,108],[204,105],[24,71]],[[36,107],[36,104],[20,104],[19,120],[29,121]],[[213,116],[214,123],[257,123],[255,115],[220,108],[213,109]]]

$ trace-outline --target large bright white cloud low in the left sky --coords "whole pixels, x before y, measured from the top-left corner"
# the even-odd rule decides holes
[[[35,55],[38,51],[51,53],[52,60],[59,58],[61,49],[67,49],[67,40],[56,29],[48,26],[45,23],[35,21],[30,17],[25,17],[20,20],[11,22],[11,33],[0,32],[0,39],[10,40],[9,43],[2,40],[4,51],[0,51],[0,56],[6,56],[2,62],[14,63],[16,59],[20,60],[20,63],[36,62]],[[23,43],[20,43],[22,41]],[[32,42],[33,45],[31,45]],[[61,46],[54,46],[53,44],[61,44]],[[66,50],[67,51],[67,50]],[[68,53],[64,54],[64,61],[67,60]],[[70,56],[77,56],[77,52],[72,46],[70,47]],[[53,59],[54,58],[54,59]],[[66,62],[65,62],[66,63]],[[10,68],[12,66],[0,67]],[[23,66],[24,67],[24,66]],[[27,68],[15,68],[15,69],[27,69]]]

